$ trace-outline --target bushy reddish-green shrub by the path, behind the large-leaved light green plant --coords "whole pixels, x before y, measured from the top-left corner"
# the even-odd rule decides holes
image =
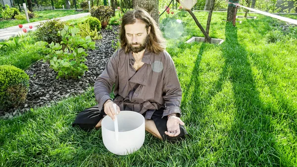
[[[69,25],[59,19],[48,20],[38,25],[35,36],[38,41],[45,41],[47,43],[60,43],[62,37],[58,36],[58,31],[61,31],[65,25]]]

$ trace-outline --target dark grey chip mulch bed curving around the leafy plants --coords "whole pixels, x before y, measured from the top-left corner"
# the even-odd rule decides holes
[[[57,73],[49,68],[49,63],[37,61],[25,72],[30,77],[29,92],[26,103],[17,109],[0,110],[0,118],[12,118],[15,115],[29,111],[30,108],[49,106],[50,102],[67,98],[70,95],[84,93],[90,86],[94,86],[96,78],[105,69],[105,64],[115,52],[112,40],[117,42],[119,27],[112,26],[112,30],[102,30],[102,39],[97,41],[96,49],[89,50],[86,65],[89,70],[80,79],[55,79]]]

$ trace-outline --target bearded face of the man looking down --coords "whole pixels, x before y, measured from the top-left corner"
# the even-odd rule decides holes
[[[146,49],[150,27],[147,32],[146,24],[137,21],[134,24],[125,25],[125,30],[128,47],[133,53],[139,53]]]

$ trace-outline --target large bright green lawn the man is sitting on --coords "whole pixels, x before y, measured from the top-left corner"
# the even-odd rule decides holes
[[[195,12],[205,27],[207,13]],[[128,156],[105,149],[101,130],[73,128],[76,114],[96,104],[85,94],[0,120],[3,167],[266,167],[297,165],[297,40],[268,43],[275,19],[256,15],[233,27],[213,13],[212,38],[222,45],[185,44],[202,36],[189,14],[168,35],[183,90],[182,119],[190,137],[177,144],[146,134]],[[162,17],[165,17],[163,15]]]

